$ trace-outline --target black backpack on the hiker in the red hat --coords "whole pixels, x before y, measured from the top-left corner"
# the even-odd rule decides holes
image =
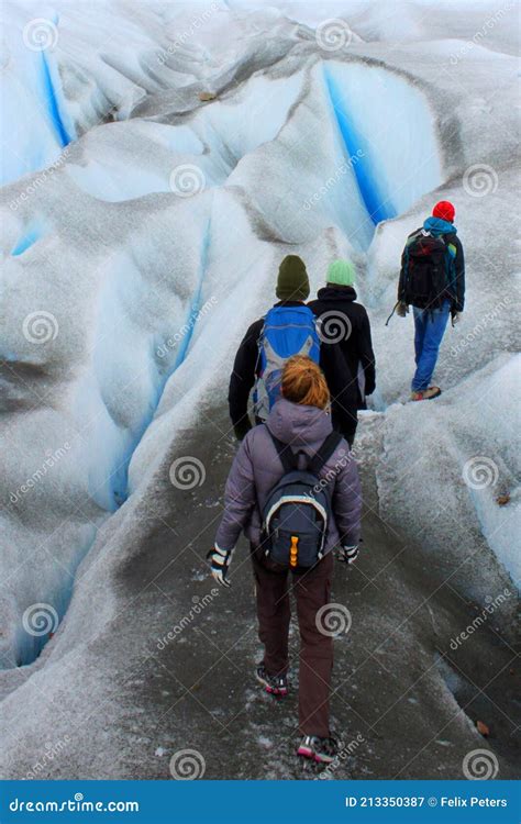
[[[404,301],[419,309],[441,307],[447,288],[447,246],[443,236],[419,230],[406,247]]]

